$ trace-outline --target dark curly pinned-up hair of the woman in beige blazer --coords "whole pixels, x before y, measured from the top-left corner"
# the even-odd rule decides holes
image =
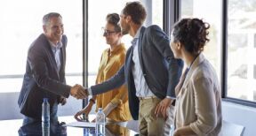
[[[204,50],[210,25],[202,19],[181,19],[177,22],[172,31],[173,42],[180,42],[185,49],[194,55]]]

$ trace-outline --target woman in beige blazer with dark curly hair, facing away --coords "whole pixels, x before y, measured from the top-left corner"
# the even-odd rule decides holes
[[[173,136],[217,136],[220,132],[220,84],[212,64],[202,53],[209,42],[209,27],[201,19],[181,19],[172,30],[174,57],[187,65],[175,88]]]

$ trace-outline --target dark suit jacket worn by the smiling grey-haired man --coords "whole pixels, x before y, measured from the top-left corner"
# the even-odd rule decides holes
[[[20,90],[20,113],[41,120],[43,98],[48,98],[50,112],[60,95],[68,97],[70,88],[66,85],[65,63],[67,37],[62,36],[60,72],[52,52],[50,42],[41,34],[28,49],[26,73]]]

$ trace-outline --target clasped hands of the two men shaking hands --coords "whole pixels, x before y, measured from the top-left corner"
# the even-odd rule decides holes
[[[76,99],[84,99],[88,97],[89,93],[88,90],[81,85],[75,85],[71,87],[70,94],[75,97]]]

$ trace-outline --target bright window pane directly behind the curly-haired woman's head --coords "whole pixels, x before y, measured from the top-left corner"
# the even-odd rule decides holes
[[[204,47],[204,56],[211,62],[220,80],[220,0],[182,0],[181,19],[198,18],[210,24],[210,42]],[[211,6],[209,6],[211,5]]]

